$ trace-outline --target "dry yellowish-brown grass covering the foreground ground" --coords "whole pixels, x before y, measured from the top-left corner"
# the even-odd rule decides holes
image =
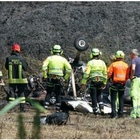
[[[41,116],[51,114],[55,110],[41,113]],[[129,111],[129,110],[128,110]],[[32,138],[33,121],[36,112],[33,107],[27,107],[22,113],[27,138]],[[0,118],[0,138],[16,139],[18,132],[18,108],[6,113]],[[128,119],[129,112],[121,119],[110,119],[109,115],[94,116],[80,112],[70,112],[67,125],[41,125],[41,139],[139,139],[140,119]]]

